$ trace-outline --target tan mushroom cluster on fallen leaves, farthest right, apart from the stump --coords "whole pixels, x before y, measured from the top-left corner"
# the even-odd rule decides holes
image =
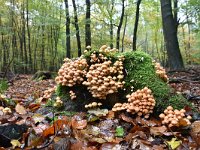
[[[159,117],[162,119],[162,124],[168,125],[168,127],[173,126],[181,126],[181,125],[190,125],[191,116],[185,116],[185,109],[177,110],[173,109],[172,106],[168,106],[167,109],[164,110],[164,113],[160,114]],[[186,124],[181,123],[181,121],[185,121]]]

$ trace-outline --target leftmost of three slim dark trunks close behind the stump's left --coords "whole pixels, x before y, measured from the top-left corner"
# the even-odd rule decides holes
[[[67,57],[70,58],[70,16],[69,16],[69,6],[68,0],[65,0],[65,12],[66,12],[66,49],[67,49]]]

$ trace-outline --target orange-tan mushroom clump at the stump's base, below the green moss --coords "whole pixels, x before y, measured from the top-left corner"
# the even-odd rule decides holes
[[[149,118],[150,113],[153,113],[155,106],[155,99],[152,95],[152,92],[147,87],[144,87],[141,90],[133,92],[131,95],[126,96],[128,98],[128,103],[116,103],[112,110],[121,111],[126,110],[129,113],[135,114],[138,116],[144,116]]]

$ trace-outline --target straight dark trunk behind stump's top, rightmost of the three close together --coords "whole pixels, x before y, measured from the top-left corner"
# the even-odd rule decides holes
[[[90,29],[90,0],[86,0],[86,18],[85,18],[85,47],[91,46],[91,29]]]

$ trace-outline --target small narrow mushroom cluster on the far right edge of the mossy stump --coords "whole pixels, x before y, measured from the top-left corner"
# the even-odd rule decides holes
[[[156,69],[156,74],[165,82],[167,82],[169,79],[167,77],[165,69],[160,65],[160,63],[157,63],[153,61]]]

